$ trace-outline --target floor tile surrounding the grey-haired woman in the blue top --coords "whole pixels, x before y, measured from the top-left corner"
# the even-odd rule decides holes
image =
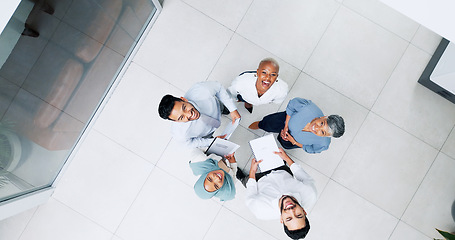
[[[338,114],[344,119],[345,134],[332,138],[326,151],[309,154],[302,149],[289,150],[292,156],[330,177],[365,121],[368,110],[306,74],[300,75],[280,110],[285,111],[289,100],[295,97],[310,99],[325,115]]]

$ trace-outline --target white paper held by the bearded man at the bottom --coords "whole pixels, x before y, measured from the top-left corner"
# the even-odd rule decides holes
[[[256,160],[262,160],[262,162],[259,163],[261,172],[284,165],[283,159],[274,153],[278,152],[278,146],[276,145],[273,134],[251,140],[250,147],[251,150],[253,150]]]

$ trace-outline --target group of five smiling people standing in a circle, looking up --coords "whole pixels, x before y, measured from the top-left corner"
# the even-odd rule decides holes
[[[279,68],[276,60],[265,58],[256,71],[241,73],[228,89],[219,82],[196,83],[184,97],[165,95],[158,112],[161,118],[173,122],[173,138],[187,147],[201,149],[202,160],[193,159],[189,163],[193,173],[200,176],[194,184],[197,196],[232,200],[237,179],[246,188],[245,204],[256,218],[280,219],[291,239],[302,239],[310,230],[305,209],[314,205],[317,191],[313,178],[284,149],[301,148],[310,154],[327,150],[331,137],[339,138],[344,134],[341,116],[324,115],[311,100],[296,97],[288,102],[285,111],[271,113],[251,123],[250,129],[277,133],[282,148],[275,154],[285,164],[269,171],[258,172],[261,159],[253,158],[249,172],[243,172],[237,166],[234,153],[226,156],[202,154],[202,149],[212,143],[223,114],[229,114],[233,123],[241,117],[236,102],[253,114],[254,106],[281,104],[286,99],[289,87],[279,78]]]

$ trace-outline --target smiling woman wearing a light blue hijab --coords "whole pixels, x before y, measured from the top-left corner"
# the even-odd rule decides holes
[[[223,160],[215,160],[212,155],[202,162],[190,162],[194,175],[201,175],[194,184],[194,191],[202,199],[217,197],[228,201],[235,197],[234,176],[237,173],[237,162],[234,153],[224,156],[229,167]]]

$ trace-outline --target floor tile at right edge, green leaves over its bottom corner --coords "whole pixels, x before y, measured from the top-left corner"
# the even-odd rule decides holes
[[[451,216],[455,199],[453,169],[455,160],[440,153],[401,220],[430,237],[441,237],[435,228],[454,232]]]

